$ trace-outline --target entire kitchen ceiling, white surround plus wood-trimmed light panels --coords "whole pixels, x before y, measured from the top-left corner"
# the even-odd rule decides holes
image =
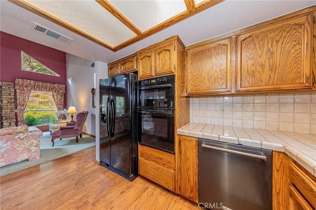
[[[184,0],[163,1],[168,2],[168,5],[182,3],[181,9],[180,6],[158,6],[158,2],[152,4],[152,0],[107,1],[106,3],[111,3],[111,8],[117,9],[112,12],[101,7],[101,4],[95,0],[15,0],[14,3],[0,0],[0,30],[91,61],[109,63],[175,34],[179,35],[185,45],[190,45],[316,5],[315,0],[225,0],[217,1],[219,3],[216,5],[212,4],[213,1],[194,1],[193,6],[187,5],[188,2],[185,4]],[[51,8],[39,10],[39,7],[33,4],[36,9],[30,9],[32,6],[25,8],[26,6],[18,5],[21,2],[23,5],[37,3],[39,7],[42,4],[42,7],[54,4],[51,6],[54,7],[52,9],[54,11],[51,12],[56,14],[48,13]],[[79,3],[80,5],[73,6]],[[82,6],[82,3],[86,6]],[[204,7],[194,13],[195,6],[203,3]],[[188,7],[193,9],[188,10]],[[181,12],[183,8],[185,12]],[[158,17],[161,10],[170,10],[171,13]],[[179,11],[180,15],[172,16]],[[58,12],[61,14],[57,18]],[[118,13],[123,15],[119,16]],[[194,15],[189,16],[192,15],[191,13]],[[75,14],[79,17],[75,17]],[[184,16],[185,19],[179,16]],[[171,25],[168,23],[168,18],[174,21]],[[124,20],[127,22],[123,23]],[[32,31],[30,28],[33,22],[70,37],[74,41],[65,44]]]

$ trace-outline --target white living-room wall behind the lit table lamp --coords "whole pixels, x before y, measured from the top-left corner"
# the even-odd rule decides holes
[[[95,68],[91,67],[92,63],[94,62],[66,54],[67,109],[70,106],[75,106],[77,112],[88,111],[83,132],[95,135],[96,113],[95,108],[92,108],[91,94],[91,88],[95,88]]]

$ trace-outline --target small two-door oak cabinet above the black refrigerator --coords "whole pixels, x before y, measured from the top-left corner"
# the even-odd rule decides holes
[[[135,53],[108,64],[108,77],[132,71],[136,71]]]

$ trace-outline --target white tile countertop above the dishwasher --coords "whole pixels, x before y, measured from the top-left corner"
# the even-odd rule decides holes
[[[286,131],[189,123],[180,135],[285,152],[316,177],[316,135]]]

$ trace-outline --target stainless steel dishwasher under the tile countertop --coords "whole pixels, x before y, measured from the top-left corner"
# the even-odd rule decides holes
[[[198,139],[198,206],[272,210],[272,151]]]

